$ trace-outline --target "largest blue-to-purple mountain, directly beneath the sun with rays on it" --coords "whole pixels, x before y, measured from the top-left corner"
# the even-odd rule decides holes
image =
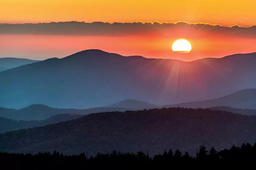
[[[255,88],[256,53],[193,62],[85,50],[0,72],[0,105],[91,108],[125,99],[157,105]]]

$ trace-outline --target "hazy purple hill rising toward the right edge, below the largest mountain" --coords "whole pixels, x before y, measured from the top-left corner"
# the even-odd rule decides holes
[[[256,89],[240,90],[217,99],[165,105],[164,107],[208,108],[216,106],[256,109]]]

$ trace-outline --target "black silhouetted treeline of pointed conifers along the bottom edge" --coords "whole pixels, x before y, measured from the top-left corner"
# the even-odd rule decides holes
[[[149,153],[98,153],[95,157],[86,153],[79,155],[63,155],[59,152],[39,152],[38,154],[11,154],[0,152],[2,167],[9,169],[172,169],[171,167],[197,167],[211,169],[213,167],[237,167],[254,164],[256,161],[256,143],[241,147],[232,146],[217,152],[214,147],[208,151],[200,146],[195,155],[180,150],[165,150],[163,154],[153,158]]]

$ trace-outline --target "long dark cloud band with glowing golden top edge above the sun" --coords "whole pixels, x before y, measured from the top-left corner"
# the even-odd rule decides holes
[[[211,25],[208,23],[188,22],[51,22],[0,24],[0,34],[39,34],[39,35],[88,35],[88,36],[127,36],[127,35],[170,35],[197,34],[203,36],[256,37],[256,26],[240,27]]]

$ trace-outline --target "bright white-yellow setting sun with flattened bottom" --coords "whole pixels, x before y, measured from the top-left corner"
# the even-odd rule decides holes
[[[191,44],[186,39],[178,39],[172,44],[172,51],[174,52],[189,53],[191,48]]]

